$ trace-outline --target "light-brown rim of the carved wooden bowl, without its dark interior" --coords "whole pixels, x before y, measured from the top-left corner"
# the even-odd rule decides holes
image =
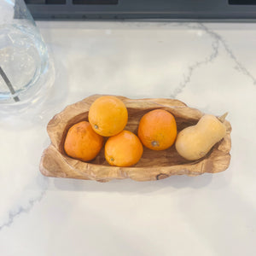
[[[81,160],[74,160],[66,154],[63,154],[64,149],[61,149],[60,146],[63,138],[65,137],[64,132],[67,132],[67,127],[74,124],[71,120],[76,119],[78,116],[82,118],[83,116],[85,117],[88,115],[90,104],[100,96],[104,95],[88,96],[82,101],[68,105],[60,113],[56,113],[55,116],[49,120],[47,131],[51,143],[48,148],[44,149],[39,167],[40,172],[42,172],[44,176],[72,177],[79,179],[91,179],[101,182],[128,177],[138,181],[148,181],[158,180],[172,175],[185,174],[189,176],[196,176],[205,172],[223,172],[230,165],[231,125],[227,120],[224,121],[224,125],[226,125],[227,128],[227,134],[214,146],[215,148],[213,147],[212,152],[206,158],[191,161],[184,165],[145,167],[103,166],[90,162],[83,162]],[[155,108],[162,108],[169,110],[179,118],[194,121],[198,121],[204,115],[200,110],[196,108],[189,108],[184,102],[177,99],[130,99],[125,96],[117,97],[125,103],[128,112],[131,108],[148,111]],[[57,132],[56,127],[58,128]],[[52,166],[49,165],[49,162]]]

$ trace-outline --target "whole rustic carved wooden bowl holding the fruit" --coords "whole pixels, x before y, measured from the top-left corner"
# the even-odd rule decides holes
[[[184,160],[177,154],[174,145],[163,151],[144,148],[142,159],[137,165],[131,167],[109,166],[104,158],[104,148],[96,156],[96,159],[90,162],[68,157],[63,148],[68,129],[82,120],[88,120],[90,104],[99,96],[101,95],[89,96],[81,102],[70,105],[49,121],[47,131],[51,144],[44,150],[40,163],[40,171],[45,176],[71,177],[99,182],[128,177],[137,181],[149,181],[172,175],[196,176],[204,172],[222,172],[230,165],[231,125],[227,120],[224,121],[227,128],[226,136],[215,144],[201,160]],[[139,120],[143,114],[156,108],[166,109],[175,116],[177,131],[181,131],[189,125],[195,125],[203,115],[201,111],[189,108],[177,100],[163,98],[132,100],[123,96],[118,97],[125,103],[129,113],[125,130],[133,131],[136,134]]]

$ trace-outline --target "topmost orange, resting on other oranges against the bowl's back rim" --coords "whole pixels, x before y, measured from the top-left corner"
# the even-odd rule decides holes
[[[91,104],[88,118],[96,133],[110,137],[124,130],[128,111],[116,96],[101,96]]]

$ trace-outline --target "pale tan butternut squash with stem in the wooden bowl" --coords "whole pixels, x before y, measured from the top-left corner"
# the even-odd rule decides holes
[[[199,160],[226,134],[223,124],[227,113],[220,118],[205,114],[196,125],[183,129],[177,134],[177,153],[186,160]]]

